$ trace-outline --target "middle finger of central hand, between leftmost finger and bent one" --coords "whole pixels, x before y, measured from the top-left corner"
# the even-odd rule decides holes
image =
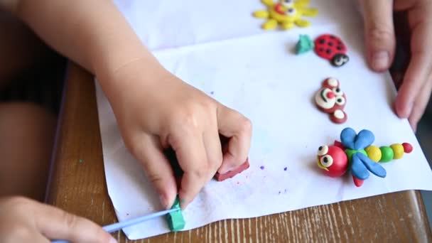
[[[179,197],[180,207],[185,209],[212,177],[202,131],[196,129],[174,134],[170,144],[183,170]]]

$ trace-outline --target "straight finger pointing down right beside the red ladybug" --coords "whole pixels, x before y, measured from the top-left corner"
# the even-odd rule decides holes
[[[393,25],[393,1],[362,0],[367,60],[375,71],[387,70],[396,45]]]

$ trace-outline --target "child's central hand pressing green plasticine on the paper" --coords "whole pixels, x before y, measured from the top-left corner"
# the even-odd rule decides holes
[[[217,171],[246,161],[252,125],[242,114],[155,65],[136,61],[114,75],[116,90],[106,90],[127,148],[141,161],[165,207],[179,193],[185,208]],[[220,136],[229,139],[222,155]],[[183,169],[177,189],[163,149],[170,147]]]

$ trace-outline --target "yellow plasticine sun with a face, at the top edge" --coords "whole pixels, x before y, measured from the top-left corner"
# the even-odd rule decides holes
[[[316,16],[317,9],[308,8],[309,0],[261,0],[267,6],[267,10],[254,12],[257,18],[267,18],[267,21],[261,26],[265,30],[274,30],[278,24],[282,29],[288,30],[294,25],[298,27],[311,26],[311,22],[303,19],[303,16]]]

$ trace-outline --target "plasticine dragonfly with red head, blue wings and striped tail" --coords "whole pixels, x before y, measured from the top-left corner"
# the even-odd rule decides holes
[[[347,127],[340,133],[340,141],[333,146],[320,146],[318,148],[318,167],[323,169],[325,175],[340,177],[347,171],[357,187],[363,185],[370,173],[385,178],[386,170],[380,163],[386,163],[411,153],[411,144],[392,144],[391,146],[377,147],[372,131],[363,129],[356,134],[354,129]]]

